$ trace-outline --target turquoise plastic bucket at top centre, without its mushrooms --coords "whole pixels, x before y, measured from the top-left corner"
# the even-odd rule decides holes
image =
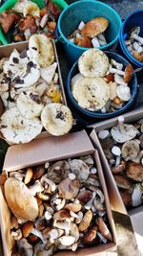
[[[107,50],[112,48],[112,45],[117,41],[122,24],[121,17],[110,6],[95,0],[82,0],[73,3],[60,14],[56,36],[64,43],[67,57],[72,63],[88,48],[73,44],[67,39],[67,36],[77,29],[80,21],[88,22],[92,18],[99,16],[107,18],[110,22],[109,28],[105,32],[109,43],[100,47],[102,50]]]

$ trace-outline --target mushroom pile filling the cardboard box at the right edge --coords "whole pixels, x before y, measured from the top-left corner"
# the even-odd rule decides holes
[[[143,119],[98,132],[112,175],[127,208],[143,203]]]

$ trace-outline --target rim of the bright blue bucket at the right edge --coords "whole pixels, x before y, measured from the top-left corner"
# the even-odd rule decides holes
[[[124,36],[123,36],[123,30],[124,30],[124,27],[126,26],[126,23],[128,22],[128,19],[131,18],[134,14],[136,13],[140,13],[140,12],[143,12],[143,10],[138,10],[138,11],[135,11],[135,12],[132,12],[130,13],[126,19],[124,20],[124,22],[122,23],[122,26],[120,28],[120,33],[119,33],[119,43],[120,43],[120,46],[122,48],[122,51],[123,53],[126,55],[127,58],[129,58],[133,64],[135,64],[136,66],[138,67],[143,67],[143,63],[138,61],[136,58],[133,58],[133,56],[131,55],[131,53],[128,51],[125,43],[124,43]]]

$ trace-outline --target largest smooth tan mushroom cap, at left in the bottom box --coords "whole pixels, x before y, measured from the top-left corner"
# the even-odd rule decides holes
[[[5,182],[5,197],[11,212],[21,220],[34,221],[38,216],[38,204],[24,182],[10,177]]]

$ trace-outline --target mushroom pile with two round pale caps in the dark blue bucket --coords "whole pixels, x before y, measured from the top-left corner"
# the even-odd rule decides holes
[[[90,49],[78,59],[79,72],[72,78],[72,95],[77,104],[91,111],[113,112],[132,97],[129,82],[133,67],[109,59],[98,50]]]

